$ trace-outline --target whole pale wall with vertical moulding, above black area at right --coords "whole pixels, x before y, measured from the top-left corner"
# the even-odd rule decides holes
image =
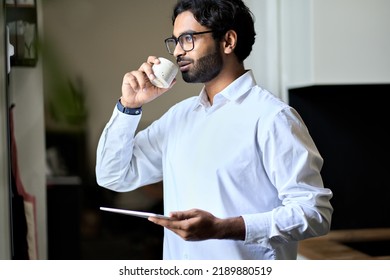
[[[289,87],[390,82],[390,1],[279,2],[284,99]]]

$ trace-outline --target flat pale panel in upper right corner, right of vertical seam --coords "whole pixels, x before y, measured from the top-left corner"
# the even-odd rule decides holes
[[[390,82],[390,1],[313,1],[316,83]]]

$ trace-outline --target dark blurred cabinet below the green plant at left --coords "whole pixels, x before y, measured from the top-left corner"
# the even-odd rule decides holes
[[[81,213],[85,184],[85,135],[46,131],[48,163],[48,258],[81,259]]]

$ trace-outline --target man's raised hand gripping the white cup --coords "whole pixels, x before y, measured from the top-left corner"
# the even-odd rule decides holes
[[[125,74],[121,97],[121,103],[124,107],[139,108],[168,91],[176,83],[176,79],[174,79],[169,88],[159,88],[150,82],[155,79],[152,66],[159,63],[156,56],[149,56],[138,70]]]

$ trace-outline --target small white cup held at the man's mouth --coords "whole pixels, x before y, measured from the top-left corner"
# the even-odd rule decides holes
[[[172,61],[159,57],[159,64],[153,65],[154,76],[156,77],[152,82],[153,85],[160,88],[169,88],[173,79],[176,77],[179,68]]]

